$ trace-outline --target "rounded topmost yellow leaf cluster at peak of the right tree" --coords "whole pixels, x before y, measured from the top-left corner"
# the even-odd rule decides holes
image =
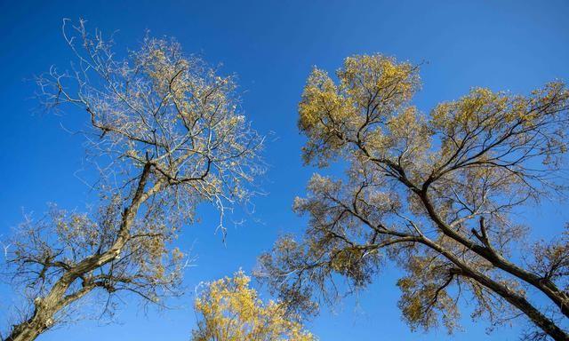
[[[381,54],[356,55],[344,60],[336,72],[338,82],[315,68],[299,104],[299,127],[309,136],[305,160],[325,159],[353,141],[371,140],[377,148],[388,148],[389,120],[402,113],[399,121],[413,121],[407,102],[419,87],[417,68],[397,63]],[[377,124],[382,123],[382,131]],[[401,122],[399,128],[404,128]],[[414,123],[411,122],[411,123]],[[397,128],[397,127],[396,127]],[[388,137],[388,139],[385,139]]]

